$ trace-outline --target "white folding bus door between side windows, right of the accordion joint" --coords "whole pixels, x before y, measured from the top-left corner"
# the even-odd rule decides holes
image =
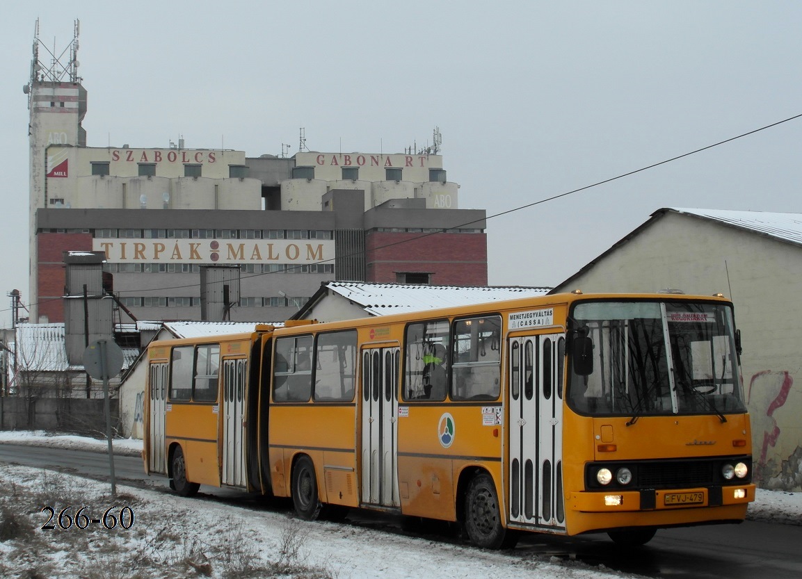
[[[400,349],[362,352],[363,504],[399,507],[398,379]]]

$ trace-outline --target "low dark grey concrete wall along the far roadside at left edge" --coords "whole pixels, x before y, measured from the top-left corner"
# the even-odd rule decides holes
[[[0,397],[0,430],[46,430],[105,435],[103,399]],[[119,432],[119,403],[110,400],[111,428]]]

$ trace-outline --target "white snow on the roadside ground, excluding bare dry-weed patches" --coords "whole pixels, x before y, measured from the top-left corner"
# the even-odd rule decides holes
[[[103,439],[47,435],[45,432],[0,431],[0,443],[3,442],[89,448],[99,452],[105,452],[107,449],[107,441]],[[136,455],[141,451],[142,441],[115,439],[114,448],[115,452]],[[0,469],[0,486],[36,489],[42,486],[43,476],[47,475],[43,475],[41,469],[6,466]],[[64,484],[87,493],[84,495],[84,500],[93,510],[91,516],[102,516],[104,508],[112,506],[107,484],[66,474],[59,475],[58,480],[59,484],[65,480],[67,482]],[[136,513],[135,526],[127,532],[122,532],[119,528],[116,532],[104,531],[102,528],[97,528],[99,525],[95,525],[91,530],[95,535],[99,533],[110,541],[117,541],[116,545],[120,552],[136,554],[139,557],[136,561],[147,560],[153,565],[152,561],[155,560],[156,567],[149,568],[151,571],[160,569],[158,565],[175,566],[176,560],[186,559],[186,553],[193,549],[193,545],[199,545],[197,557],[210,562],[213,569],[211,576],[226,577],[222,569],[225,569],[225,565],[229,565],[231,569],[230,565],[236,563],[230,560],[230,545],[244,545],[245,551],[241,553],[242,561],[261,561],[267,565],[268,561],[275,561],[282,545],[286,545],[288,533],[294,532],[302,537],[302,541],[298,541],[296,545],[299,546],[299,558],[305,565],[327,569],[329,573],[327,577],[336,579],[435,576],[440,579],[502,578],[521,577],[521,575],[538,578],[600,579],[624,576],[603,566],[597,569],[580,563],[550,561],[548,558],[512,557],[509,553],[482,551],[462,545],[452,545],[448,541],[402,536],[367,527],[326,522],[308,523],[295,520],[282,512],[270,512],[264,509],[251,510],[213,501],[204,501],[203,508],[198,508],[197,499],[184,499],[165,492],[127,485],[118,484],[118,496],[131,497],[129,500]],[[123,505],[116,506],[119,508]],[[94,512],[95,510],[98,512]],[[40,537],[43,532],[39,527],[44,523],[45,516],[46,514],[36,512],[33,518],[36,534]],[[757,500],[750,505],[748,518],[800,524],[802,493],[759,490]],[[167,525],[170,525],[169,528]],[[173,548],[172,554],[163,553],[164,549],[154,548],[154,545],[163,545],[164,536],[170,536],[176,529],[180,529],[182,535],[180,543],[176,544],[179,545],[177,555],[176,547]],[[51,531],[48,539],[52,537],[58,541],[75,541],[75,537],[80,535],[75,529],[73,531],[57,528]],[[86,558],[92,557],[91,549],[83,553],[83,545],[75,542],[67,542],[61,546],[50,545],[48,549],[44,549],[48,552],[46,556],[42,555],[42,549],[38,549],[37,556],[32,557],[26,555],[24,551],[14,552],[14,549],[23,549],[22,546],[14,547],[10,545],[10,541],[0,542],[0,575],[6,572],[13,577],[24,569],[30,569],[30,565],[46,565],[45,569],[47,565],[51,565],[51,569],[59,569],[59,577],[82,577],[79,567],[75,566],[76,561],[77,564],[83,561],[84,565],[87,561],[90,563],[92,561],[91,558]],[[93,548],[95,542],[89,542],[88,545]],[[77,551],[82,553],[79,555]],[[38,557],[41,557],[41,561]],[[99,555],[95,554],[94,557]],[[226,560],[225,557],[229,559]],[[17,559],[22,562],[3,563],[4,560]],[[135,563],[122,560],[119,565],[130,566]],[[228,577],[236,577],[236,574],[229,574]],[[296,575],[296,577],[306,576]]]

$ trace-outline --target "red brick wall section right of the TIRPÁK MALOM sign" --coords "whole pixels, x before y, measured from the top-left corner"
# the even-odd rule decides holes
[[[366,281],[395,283],[395,272],[431,272],[432,285],[488,285],[484,233],[368,233]]]

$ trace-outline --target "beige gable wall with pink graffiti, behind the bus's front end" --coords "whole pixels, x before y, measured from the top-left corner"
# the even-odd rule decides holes
[[[590,241],[590,240],[589,240]],[[557,291],[721,292],[735,303],[755,475],[802,488],[802,248],[695,217],[666,215]]]

